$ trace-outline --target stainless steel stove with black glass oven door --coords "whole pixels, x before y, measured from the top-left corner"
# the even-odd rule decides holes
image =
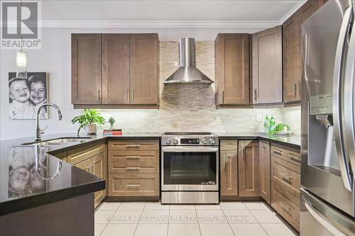
[[[219,142],[212,133],[164,133],[161,202],[219,203]]]

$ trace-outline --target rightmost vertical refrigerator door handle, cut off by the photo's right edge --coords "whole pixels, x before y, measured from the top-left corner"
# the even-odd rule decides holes
[[[344,78],[344,133],[349,151],[352,173],[355,173],[355,24],[353,23],[349,40]]]

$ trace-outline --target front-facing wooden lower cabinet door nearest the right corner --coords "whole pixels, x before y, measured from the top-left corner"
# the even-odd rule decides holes
[[[239,140],[239,196],[260,196],[258,140]]]

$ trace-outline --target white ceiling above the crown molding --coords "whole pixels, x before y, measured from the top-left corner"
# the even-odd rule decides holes
[[[282,22],[301,0],[48,0],[42,1],[44,22],[100,21],[190,23],[199,25]]]

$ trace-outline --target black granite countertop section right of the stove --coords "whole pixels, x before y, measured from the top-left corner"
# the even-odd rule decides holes
[[[278,143],[280,145],[286,145],[288,147],[293,147],[300,149],[301,147],[301,137],[299,135],[293,135],[290,137],[279,137],[279,136],[269,136],[269,135],[257,135],[256,133],[215,133],[218,135],[219,139],[239,139],[239,140],[268,140],[271,142]]]

